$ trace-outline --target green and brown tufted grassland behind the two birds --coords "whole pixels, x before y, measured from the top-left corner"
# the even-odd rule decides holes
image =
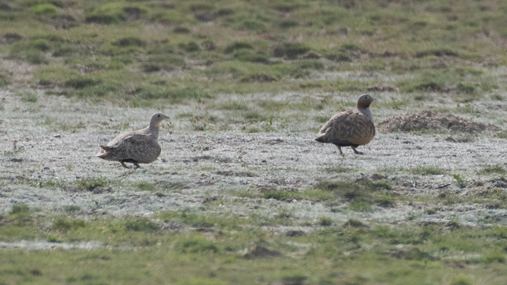
[[[129,91],[147,88],[146,81],[140,80],[141,78],[126,80],[128,84],[118,85],[113,76],[104,76],[111,70],[129,70],[134,74],[141,73],[141,77],[144,77],[143,72],[148,72],[150,77],[159,81],[171,78],[172,86],[166,86],[171,88],[170,92],[174,86],[188,86],[193,82],[191,78],[207,78],[206,89],[210,96],[215,96],[228,88],[224,80],[213,80],[223,75],[232,74],[239,79],[227,82],[228,85],[232,84],[230,87],[236,92],[242,89],[244,83],[257,82],[271,85],[272,90],[290,90],[298,88],[300,84],[292,82],[292,78],[315,79],[315,75],[319,76],[310,70],[348,71],[354,70],[357,65],[359,70],[382,72],[386,77],[414,74],[410,79],[395,79],[395,88],[400,91],[452,92],[464,95],[469,101],[478,99],[479,92],[492,92],[501,89],[501,86],[494,82],[494,75],[486,72],[487,61],[476,52],[475,42],[467,41],[460,45],[456,38],[475,36],[475,29],[495,30],[498,23],[489,21],[486,24],[479,21],[475,28],[470,28],[466,24],[456,26],[454,19],[465,19],[469,14],[477,14],[478,18],[481,18],[480,15],[482,18],[490,17],[486,15],[495,13],[495,9],[499,8],[492,6],[480,10],[478,4],[464,2],[466,4],[462,5],[462,10],[452,11],[450,8],[451,11],[442,12],[434,10],[430,3],[417,3],[417,9],[406,11],[402,7],[382,6],[372,1],[364,5],[344,5],[348,8],[316,1],[315,5],[290,5],[291,8],[248,3],[232,5],[234,8],[229,5],[225,5],[229,8],[213,5],[204,10],[198,8],[202,5],[188,5],[178,1],[170,5],[127,2],[87,3],[84,6],[34,3],[28,10],[18,10],[11,6],[26,5],[18,5],[15,1],[9,6],[10,9],[3,10],[4,17],[17,24],[6,30],[5,49],[17,60],[43,64],[70,75],[71,78],[58,78],[58,85],[68,88],[65,91],[68,96],[105,96],[108,99],[130,101],[126,95]],[[418,9],[436,11],[432,12],[435,17],[432,21],[438,21],[441,25],[433,26],[424,15],[415,12]],[[256,12],[251,13],[254,10]],[[285,10],[290,11],[283,12],[291,13],[290,18],[278,19],[271,14]],[[77,17],[76,13],[83,16]],[[359,21],[358,13],[368,15],[368,20]],[[449,13],[453,16],[449,16]],[[391,18],[387,20],[380,15],[389,15]],[[28,22],[22,19],[41,23],[38,31],[22,34]],[[62,24],[59,19],[64,19],[66,24]],[[308,19],[313,21],[308,22]],[[209,22],[214,22],[215,28],[206,28]],[[120,24],[125,23],[128,26],[120,27]],[[140,32],[144,25],[152,23],[174,26],[164,28],[161,33]],[[88,32],[97,24],[101,25],[100,32]],[[49,33],[43,28],[52,25],[59,29]],[[68,32],[68,29],[77,26],[79,29]],[[337,29],[337,26],[341,28]],[[119,27],[121,30],[117,30]],[[224,30],[216,32],[216,27]],[[456,38],[442,42],[441,38],[451,32],[450,28]],[[377,45],[379,39],[375,37],[380,32],[385,35],[382,39],[385,43],[383,46]],[[270,36],[260,36],[263,33]],[[432,36],[424,40],[433,48],[421,48],[418,37],[429,33]],[[303,34],[305,36],[301,36]],[[333,44],[337,36],[346,37],[338,46]],[[276,39],[275,44],[273,39]],[[502,56],[494,46],[488,47],[487,51],[483,47],[482,54]],[[132,56],[136,60],[132,60]],[[119,57],[130,59],[118,60]],[[270,57],[284,61],[273,61]],[[501,59],[497,60],[499,61]],[[248,74],[241,70],[243,63],[263,63],[266,66],[257,66],[257,72]],[[229,68],[234,65],[239,68]],[[485,68],[481,68],[481,65]],[[171,76],[171,73],[189,69],[190,77]],[[469,80],[470,76],[473,76],[472,81]],[[84,77],[85,80],[79,77]],[[400,78],[402,77],[406,76]],[[378,82],[384,79],[375,80]],[[361,83],[362,81],[340,79],[334,89],[366,90],[369,84]],[[46,86],[53,89],[58,85]],[[90,87],[95,92],[87,92],[86,89]],[[143,98],[148,101],[153,99],[155,98]]]

